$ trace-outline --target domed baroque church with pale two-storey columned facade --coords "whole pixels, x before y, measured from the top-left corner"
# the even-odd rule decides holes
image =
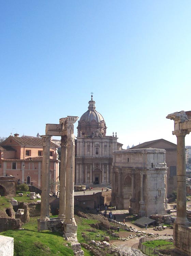
[[[93,96],[88,110],[78,121],[75,149],[76,185],[111,185],[113,151],[120,150],[117,133],[106,136],[106,123],[95,110]]]

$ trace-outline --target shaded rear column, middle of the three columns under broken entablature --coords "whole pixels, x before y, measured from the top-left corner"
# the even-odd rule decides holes
[[[60,162],[60,192],[59,192],[59,219],[65,219],[65,190],[66,190],[66,160],[67,137],[61,136],[61,162]]]

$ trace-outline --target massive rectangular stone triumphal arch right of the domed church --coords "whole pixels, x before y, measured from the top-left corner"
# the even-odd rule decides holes
[[[149,217],[167,209],[165,150],[156,148],[114,151],[112,205]]]

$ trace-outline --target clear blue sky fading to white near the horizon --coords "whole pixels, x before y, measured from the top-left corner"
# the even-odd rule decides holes
[[[176,143],[166,115],[191,110],[190,0],[0,5],[0,137],[42,135],[46,123],[80,117],[93,92],[123,148]]]

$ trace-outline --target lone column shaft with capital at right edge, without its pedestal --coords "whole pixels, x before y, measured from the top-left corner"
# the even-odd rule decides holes
[[[186,134],[188,134],[187,130],[175,132],[177,137],[177,217],[175,223],[182,225],[190,223],[186,217]]]

